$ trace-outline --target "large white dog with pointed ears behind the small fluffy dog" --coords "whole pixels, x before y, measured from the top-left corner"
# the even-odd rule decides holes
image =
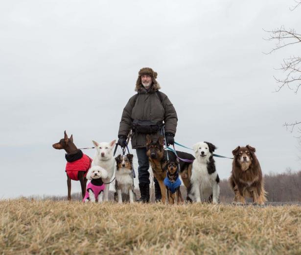
[[[114,175],[115,169],[115,159],[113,156],[113,148],[116,143],[116,140],[113,140],[111,143],[98,143],[92,141],[96,152],[93,158],[93,165],[100,166],[108,172],[107,178],[103,178],[103,181],[109,183],[111,178]],[[106,185],[105,192],[104,192],[104,201],[109,201],[109,189],[110,184]]]

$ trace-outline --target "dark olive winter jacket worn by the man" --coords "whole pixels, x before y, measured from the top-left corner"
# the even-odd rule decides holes
[[[162,102],[160,101],[160,98],[156,93],[159,89],[159,83],[153,84],[148,91],[141,84],[136,84],[138,96],[136,94],[131,97],[124,107],[118,136],[128,136],[134,120],[163,121],[165,123],[165,132],[175,135],[178,122],[176,110],[168,97],[162,92],[159,92],[161,94]],[[152,139],[157,140],[159,134],[151,134],[151,136]],[[131,141],[133,149],[143,148],[146,144],[146,135],[132,132]]]

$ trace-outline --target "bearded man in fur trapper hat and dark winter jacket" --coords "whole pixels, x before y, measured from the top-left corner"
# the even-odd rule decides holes
[[[132,128],[132,148],[136,149],[139,164],[138,179],[141,194],[139,202],[143,203],[149,202],[150,183],[149,161],[146,155],[146,134],[150,134],[153,140],[157,140],[164,122],[166,142],[168,145],[174,144],[178,122],[176,110],[167,96],[159,92],[160,85],[156,78],[157,73],[153,69],[148,67],[140,69],[135,88],[137,94],[131,97],[124,107],[118,131],[118,145],[124,147]],[[143,128],[137,128],[141,121],[144,125]],[[149,130],[145,127],[147,123],[152,127]],[[156,130],[156,126],[158,130]],[[159,201],[161,200],[160,186],[157,179],[154,178],[154,182],[156,201]]]

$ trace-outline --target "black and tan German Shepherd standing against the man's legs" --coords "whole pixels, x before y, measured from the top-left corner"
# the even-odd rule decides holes
[[[146,154],[148,160],[152,166],[154,177],[157,178],[160,185],[160,190],[162,194],[162,203],[166,201],[166,189],[164,185],[164,178],[166,177],[166,171],[164,170],[167,165],[166,153],[168,153],[168,158],[171,161],[176,161],[177,157],[175,153],[171,151],[164,151],[164,137],[159,136],[157,141],[153,141],[150,135],[146,135]],[[176,151],[179,157],[194,160],[194,156],[189,153]],[[190,176],[191,176],[192,163],[187,163],[180,160],[180,175],[186,188],[190,186]]]

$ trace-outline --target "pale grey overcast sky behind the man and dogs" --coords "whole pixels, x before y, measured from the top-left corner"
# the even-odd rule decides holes
[[[300,47],[262,53],[274,46],[263,28],[300,33],[293,3],[1,1],[0,198],[66,195],[65,152],[51,145],[65,129],[78,148],[116,139],[142,67],[158,73],[177,110],[177,142],[208,141],[226,156],[250,144],[263,173],[300,170],[297,140],[282,127],[301,120],[300,93],[272,93],[282,76],[274,68]],[[216,163],[228,178],[232,161]]]

